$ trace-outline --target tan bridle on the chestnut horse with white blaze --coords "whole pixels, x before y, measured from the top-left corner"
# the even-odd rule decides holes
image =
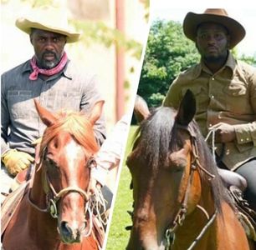
[[[39,168],[42,168],[43,161],[45,159],[47,153],[47,147],[43,149],[43,154],[42,158],[39,164]],[[87,162],[87,165],[85,168],[95,168],[96,167],[96,161],[94,156],[91,156]],[[31,188],[28,190],[28,203],[32,205],[33,208],[36,208],[38,211],[43,212],[43,213],[50,213],[50,215],[53,218],[58,218],[59,212],[58,212],[58,207],[57,203],[59,202],[60,198],[63,198],[64,195],[67,193],[79,193],[84,198],[84,213],[86,214],[87,212],[90,215],[90,228],[92,228],[92,212],[90,210],[90,194],[89,191],[84,191],[82,188],[76,187],[76,186],[71,186],[67,188],[61,189],[58,193],[56,192],[53,184],[50,182],[49,175],[46,171],[45,168],[42,169],[43,174],[42,174],[42,184],[44,188],[44,193],[46,197],[46,208],[39,208],[37,204],[33,203],[33,201],[30,198],[30,192]],[[91,229],[90,229],[91,231]],[[88,233],[89,235],[90,233]]]

